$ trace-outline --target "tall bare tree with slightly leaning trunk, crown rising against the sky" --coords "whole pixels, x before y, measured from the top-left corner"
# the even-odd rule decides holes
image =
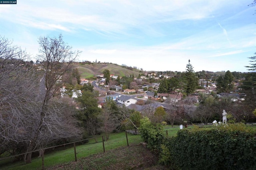
[[[54,95],[61,86],[62,76],[72,68],[72,63],[80,53],[79,51],[73,52],[72,47],[66,45],[62,40],[62,35],[59,35],[58,38],[40,37],[38,43],[40,47],[38,61],[41,63],[44,76],[42,76],[38,92],[41,98],[39,109],[35,113],[37,121],[31,131],[30,143],[26,150],[29,153],[24,157],[26,163],[31,162],[32,151],[35,149],[42,134],[52,134],[53,128],[58,130],[58,127],[63,128],[62,119],[58,117],[60,111],[53,103]],[[57,123],[60,126],[56,127],[53,123],[55,125]],[[58,135],[59,138],[63,137],[61,134]]]

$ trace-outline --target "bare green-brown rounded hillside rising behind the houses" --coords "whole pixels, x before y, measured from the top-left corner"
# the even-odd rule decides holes
[[[109,70],[110,74],[114,74],[115,76],[119,75],[121,77],[130,76],[131,74],[137,77],[138,74],[140,74],[140,70],[138,69],[110,63],[74,63],[74,65],[75,68],[78,68],[81,78],[97,76],[98,74],[102,74],[105,69]]]

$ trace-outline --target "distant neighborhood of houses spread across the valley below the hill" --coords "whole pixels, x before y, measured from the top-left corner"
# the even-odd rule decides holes
[[[130,75],[129,81],[130,86],[121,84],[122,82],[128,81],[127,77],[120,77],[114,74],[109,75],[109,81],[106,82],[107,77],[104,77],[104,74],[98,74],[95,76],[96,79],[86,79],[80,78],[80,85],[84,86],[86,84],[95,83],[94,90],[98,90],[98,107],[102,107],[106,100],[113,100],[119,105],[124,105],[130,109],[134,109],[139,112],[147,109],[156,109],[157,107],[163,107],[165,110],[171,109],[173,106],[178,104],[186,105],[187,112],[194,111],[196,104],[199,103],[198,94],[212,94],[217,92],[216,81],[211,78],[198,78],[198,87],[190,95],[184,95],[181,89],[176,88],[172,92],[162,93],[159,92],[159,87],[162,80],[168,80],[175,77],[175,75],[167,74],[157,74],[156,72],[143,72],[139,74],[138,77]],[[119,79],[119,82],[117,80]],[[125,79],[125,80],[123,80]],[[152,80],[154,80],[152,82]],[[150,81],[152,83],[150,83]],[[238,89],[239,82],[234,83],[234,89]],[[65,94],[64,87],[61,89],[61,96]],[[72,98],[77,98],[82,95],[81,90],[73,90],[72,95],[69,96]],[[238,90],[229,93],[220,93],[218,94],[219,98],[223,96],[232,96],[234,101],[243,100],[240,98]],[[147,101],[151,101],[148,102]],[[156,104],[154,104],[156,102]],[[154,106],[152,106],[154,104]],[[189,106],[189,107],[188,107]]]

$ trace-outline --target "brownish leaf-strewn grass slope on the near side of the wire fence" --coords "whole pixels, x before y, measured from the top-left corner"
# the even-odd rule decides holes
[[[79,159],[49,168],[49,170],[167,170],[166,166],[158,164],[158,156],[150,152],[145,146],[133,145],[108,150],[105,153]]]

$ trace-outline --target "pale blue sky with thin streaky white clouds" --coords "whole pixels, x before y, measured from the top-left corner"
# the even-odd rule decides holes
[[[17,0],[0,4],[0,35],[35,61],[58,37],[100,61],[146,71],[247,72],[256,52],[253,0]]]

